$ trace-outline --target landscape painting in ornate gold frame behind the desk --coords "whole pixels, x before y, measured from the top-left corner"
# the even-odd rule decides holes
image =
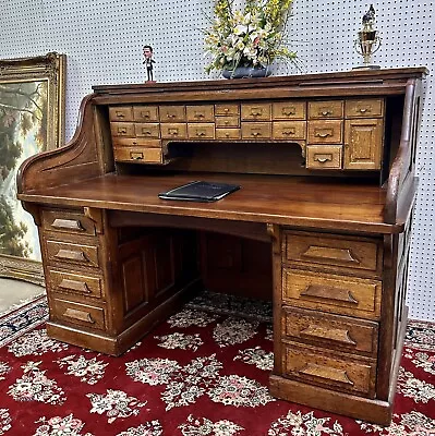
[[[63,145],[65,55],[0,60],[0,277],[44,284],[37,228],[16,198],[29,156]]]

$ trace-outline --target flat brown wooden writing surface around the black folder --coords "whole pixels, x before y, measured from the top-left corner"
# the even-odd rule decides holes
[[[213,204],[170,202],[158,193],[193,180],[240,184],[240,191]],[[116,175],[21,194],[41,203],[88,206],[325,229],[395,233],[384,223],[385,191],[367,184],[313,182],[304,178],[247,174]]]

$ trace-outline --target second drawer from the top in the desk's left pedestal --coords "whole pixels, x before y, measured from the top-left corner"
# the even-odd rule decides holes
[[[98,268],[98,247],[47,240],[47,255],[51,263],[82,265]]]

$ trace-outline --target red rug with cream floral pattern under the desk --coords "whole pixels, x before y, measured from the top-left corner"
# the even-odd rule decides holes
[[[246,305],[252,316],[239,317]],[[0,435],[435,435],[435,324],[409,324],[383,428],[271,398],[269,316],[208,295],[110,358],[49,339],[47,304],[34,302],[0,319]]]

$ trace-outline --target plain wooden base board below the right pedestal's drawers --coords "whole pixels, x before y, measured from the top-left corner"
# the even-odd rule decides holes
[[[270,375],[270,393],[282,400],[380,425],[391,422],[392,402],[337,392]]]

